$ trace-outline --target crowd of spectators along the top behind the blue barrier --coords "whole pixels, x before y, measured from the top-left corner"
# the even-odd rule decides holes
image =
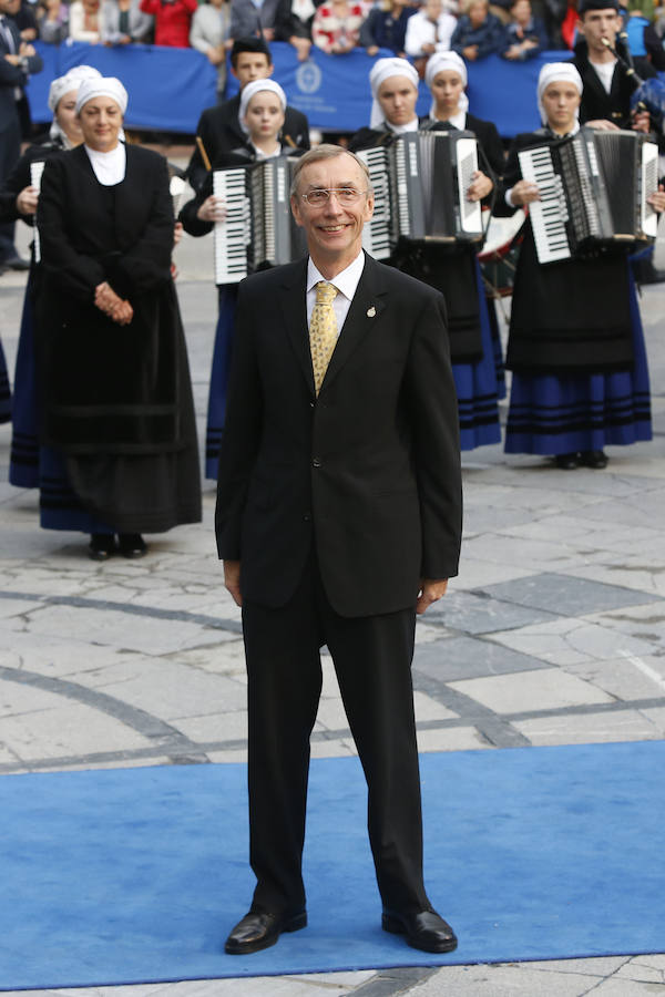
[[[663,0],[665,3],[665,0]],[[284,41],[306,60],[313,45],[332,55],[365,49],[411,59],[421,78],[437,51],[466,62],[490,54],[523,61],[543,49],[574,49],[577,0],[16,0],[25,42],[68,39],[104,45],[147,42],[192,47],[216,66],[226,88],[234,39]],[[665,69],[665,7],[628,0],[627,43]],[[632,9],[634,8],[634,9]]]

